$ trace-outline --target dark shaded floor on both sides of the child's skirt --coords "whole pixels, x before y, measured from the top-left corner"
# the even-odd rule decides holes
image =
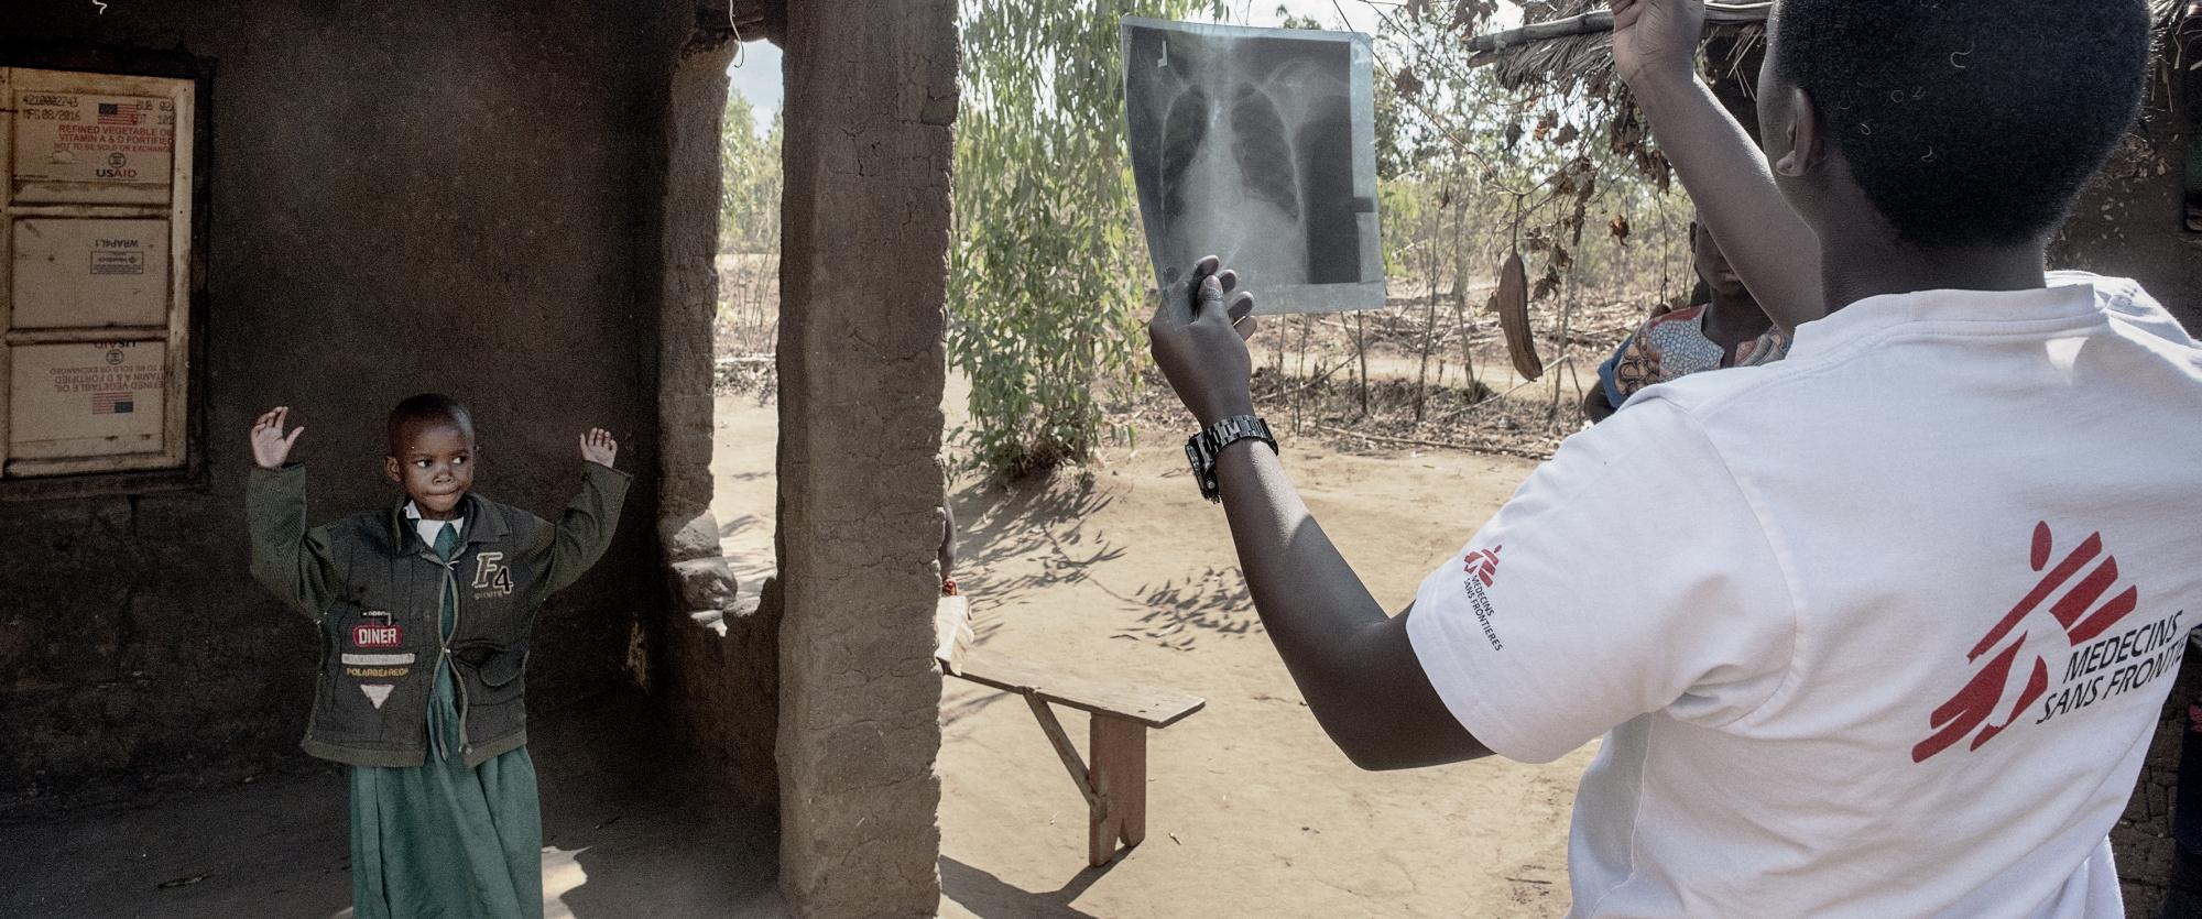
[[[546,917],[782,917],[771,816],[729,805],[636,697],[531,719]],[[0,917],[348,917],[341,767],[0,827]]]

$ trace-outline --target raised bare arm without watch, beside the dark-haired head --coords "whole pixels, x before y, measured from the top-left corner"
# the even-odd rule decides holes
[[[1614,0],[1614,68],[1652,121],[1698,218],[1784,332],[1828,314],[1819,235],[1775,187],[1766,154],[1698,77],[1704,0]]]

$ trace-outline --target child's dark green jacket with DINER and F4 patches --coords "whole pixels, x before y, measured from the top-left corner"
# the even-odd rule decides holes
[[[628,473],[581,464],[581,495],[553,525],[467,495],[451,563],[421,541],[403,506],[306,528],[306,466],[253,468],[247,517],[253,578],[321,633],[321,675],[304,748],[350,765],[421,765],[436,660],[451,660],[467,765],[528,743],[524,671],[535,607],[575,583],[619,528]],[[458,591],[440,640],[445,583]]]

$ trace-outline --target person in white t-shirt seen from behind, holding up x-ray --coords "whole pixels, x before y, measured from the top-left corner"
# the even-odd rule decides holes
[[[1207,259],[1163,297],[1262,622],[1361,767],[1603,737],[1574,915],[2123,917],[2107,831],[2202,616],[2202,347],[2043,253],[2138,110],[2145,2],[1779,0],[1764,152],[1702,15],[1616,2],[1616,64],[1788,358],[1636,394],[1405,613],[1251,418],[1251,292]]]

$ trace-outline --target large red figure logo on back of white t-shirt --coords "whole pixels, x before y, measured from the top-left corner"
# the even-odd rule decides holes
[[[1973,679],[1958,695],[1929,715],[1927,726],[1933,734],[1911,748],[1914,763],[1925,763],[1929,756],[1949,750],[1966,737],[1973,739],[1966,750],[1980,750],[1982,743],[2010,728],[2026,706],[2032,706],[2035,699],[2048,693],[2050,664],[2041,653],[2035,653],[2032,664],[2019,671],[2026,673],[2026,682],[2013,684],[2013,664],[2019,662],[2019,649],[2026,646],[2028,635],[2041,633],[2054,642],[2057,633],[2061,633],[2065,649],[2079,649],[2118,624],[2140,602],[2138,587],[2112,594],[2112,587],[2118,585],[2118,558],[2103,554],[2101,532],[2087,534],[2054,567],[2050,567],[2052,547],[2050,525],[2035,523],[2030,563],[2035,572],[2043,572],[2041,580],[1964,655],[1977,671],[1973,671]],[[2096,558],[2101,558],[2101,565],[2081,576],[2081,569]],[[2074,578],[2079,580],[2074,583]],[[2050,596],[2059,589],[2065,589],[2063,596],[2050,602]],[[2043,605],[2048,605],[2048,616],[2035,616]],[[1991,651],[1995,653],[1991,655]],[[1986,664],[1982,664],[1982,657],[1986,657]],[[2006,708],[2004,699],[2013,695],[2013,686],[2017,686],[2017,697]],[[1997,712],[2004,712],[2002,721],[1993,721]]]

